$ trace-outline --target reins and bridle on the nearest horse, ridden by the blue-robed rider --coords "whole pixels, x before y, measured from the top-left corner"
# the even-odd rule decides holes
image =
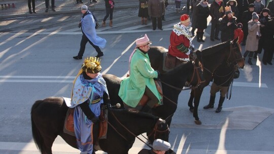
[[[134,133],[132,133],[129,129],[127,129],[119,120],[118,120],[118,118],[116,117],[116,115],[113,113],[113,111],[111,110],[111,113],[112,113],[112,115],[113,115],[113,117],[115,118],[115,120],[127,131],[127,132],[129,132],[131,135],[133,135],[134,137],[136,137],[136,138],[138,138],[139,140],[141,140],[143,143],[145,143],[145,144],[147,144],[145,141],[143,141],[140,137],[138,137],[138,136],[136,136]],[[158,132],[158,133],[164,133],[164,132],[166,132],[166,131],[169,131],[169,128],[168,128],[168,126],[167,126],[167,129],[166,130],[163,130],[163,131],[161,131],[161,130],[158,130],[158,125],[162,122],[163,120],[162,119],[158,119],[158,121],[156,122],[156,124],[155,124],[155,126],[154,126],[154,128],[153,128],[153,131],[150,133],[150,135],[148,135],[148,137],[149,136],[151,136],[153,133],[154,133],[154,140],[155,140],[155,138],[156,138],[156,133]],[[123,137],[127,142],[128,142],[128,140],[121,134],[121,133],[119,133],[119,131],[108,121],[108,124],[121,136],[121,137]],[[147,138],[146,138],[147,139]],[[148,140],[148,139],[147,139]],[[149,144],[147,144],[150,148],[152,148]]]

